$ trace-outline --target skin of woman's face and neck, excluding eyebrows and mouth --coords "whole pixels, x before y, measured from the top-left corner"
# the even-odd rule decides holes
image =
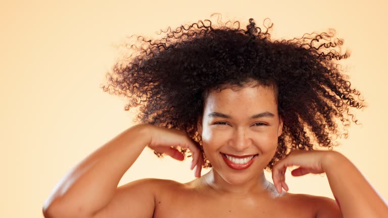
[[[230,118],[209,117],[213,112]],[[250,119],[264,112],[273,117]],[[257,86],[239,91],[230,88],[212,91],[204,106],[204,117],[198,123],[204,152],[213,166],[203,179],[225,194],[261,193],[267,185],[264,168],[275,154],[282,127],[271,89]],[[233,170],[226,165],[220,152],[259,155],[248,169]]]

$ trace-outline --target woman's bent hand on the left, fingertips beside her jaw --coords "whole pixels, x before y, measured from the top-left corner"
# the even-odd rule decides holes
[[[148,147],[158,153],[165,153],[177,160],[183,160],[184,155],[179,152],[177,147],[187,148],[192,153],[192,161],[190,170],[197,167],[195,177],[201,177],[202,165],[205,163],[200,145],[192,140],[185,131],[177,129],[168,129],[157,127],[154,125],[147,125],[151,131],[151,142]]]

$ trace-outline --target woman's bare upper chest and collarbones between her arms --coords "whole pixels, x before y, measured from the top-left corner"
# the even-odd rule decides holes
[[[225,195],[198,179],[185,184],[171,180],[155,184],[161,188],[156,192],[153,217],[314,218],[319,208],[330,212],[330,202],[324,197],[291,193],[279,196],[272,187],[258,194],[237,196]],[[341,217],[330,214],[321,217]]]

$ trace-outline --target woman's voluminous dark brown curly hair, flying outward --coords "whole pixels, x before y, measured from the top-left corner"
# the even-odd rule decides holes
[[[124,43],[133,49],[131,56],[116,62],[102,88],[128,97],[126,111],[140,106],[135,122],[186,131],[202,150],[203,168],[212,166],[203,151],[197,121],[210,90],[244,87],[252,80],[274,88],[283,120],[283,133],[267,171],[290,150],[313,150],[313,144],[331,150],[338,145],[334,136],[348,137],[349,116],[357,124],[350,107],[366,104],[336,63],[348,58],[350,51],[341,55],[344,40],[331,39],[334,29],[271,40],[268,30],[273,24],[262,32],[252,18],[247,29],[240,29],[238,21],[233,22],[237,28],[227,25],[231,22],[217,23],[204,20],[180,26],[161,40],[138,36],[140,47]],[[337,119],[343,133],[338,131]],[[180,151],[185,154],[187,149]]]

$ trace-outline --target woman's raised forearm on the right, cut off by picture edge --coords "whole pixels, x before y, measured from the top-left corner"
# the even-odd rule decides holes
[[[344,155],[330,152],[322,168],[343,217],[388,217],[387,204]]]

